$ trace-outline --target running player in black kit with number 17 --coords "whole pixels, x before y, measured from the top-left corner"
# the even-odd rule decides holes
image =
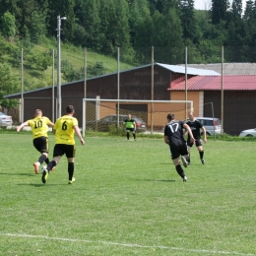
[[[183,165],[187,167],[188,151],[186,141],[183,137],[183,128],[185,128],[190,135],[192,144],[195,142],[195,139],[189,126],[182,121],[175,121],[174,114],[169,113],[167,115],[167,122],[164,127],[164,143],[169,145],[171,159],[175,164],[177,173],[182,177],[183,181],[187,181],[187,177],[179,161],[181,155]]]

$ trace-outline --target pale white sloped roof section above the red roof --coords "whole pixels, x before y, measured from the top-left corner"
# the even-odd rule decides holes
[[[180,66],[180,65],[168,65],[168,64],[161,64],[161,63],[156,63],[158,66],[165,68],[173,73],[181,73],[185,74],[185,66]],[[194,75],[194,76],[217,76],[221,75],[220,73],[213,71],[213,70],[208,70],[208,69],[199,69],[199,68],[190,68],[187,67],[187,74],[188,75]]]

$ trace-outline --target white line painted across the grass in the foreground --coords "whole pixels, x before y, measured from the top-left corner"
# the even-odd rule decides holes
[[[20,234],[20,233],[2,233],[2,236],[13,236],[13,237],[31,237],[31,238],[42,238],[49,240],[59,240],[59,241],[71,241],[71,242],[87,242],[87,243],[102,243],[108,245],[117,245],[123,247],[138,247],[138,248],[150,248],[150,249],[167,249],[167,250],[175,250],[175,251],[187,251],[187,252],[195,252],[195,253],[212,253],[212,254],[224,254],[224,255],[239,255],[239,256],[256,256],[256,254],[248,254],[248,253],[240,253],[240,252],[231,252],[231,251],[214,251],[214,250],[195,250],[195,249],[186,249],[186,248],[178,248],[178,247],[170,247],[170,246],[150,246],[150,245],[140,245],[140,244],[132,244],[132,243],[118,243],[118,242],[108,242],[108,241],[91,241],[91,240],[83,240],[83,239],[72,239],[72,238],[62,238],[62,237],[49,237],[43,235],[32,235],[32,234]]]

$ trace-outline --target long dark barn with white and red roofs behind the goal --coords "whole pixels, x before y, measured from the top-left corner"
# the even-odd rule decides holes
[[[219,65],[220,67],[220,65]],[[209,68],[211,68],[209,66]],[[187,80],[185,80],[187,75]],[[140,66],[119,73],[120,99],[152,99],[152,65]],[[194,112],[198,116],[221,117],[221,72],[207,69],[206,66],[185,68],[182,65],[154,64],[154,99],[155,100],[185,100],[185,82],[187,81],[187,99],[193,100]],[[227,86],[228,85],[228,86]],[[68,104],[76,108],[76,117],[82,124],[83,98],[115,99],[117,98],[117,73],[111,73],[87,80],[85,92],[84,80],[75,81],[61,86],[62,113]],[[41,108],[44,115],[56,116],[56,93],[54,87],[54,107],[52,105],[52,87],[42,88],[24,93],[24,120],[33,116],[34,109]],[[86,94],[85,94],[86,93]],[[21,98],[21,94],[6,96]],[[256,74],[228,76],[224,75],[224,132],[237,135],[243,129],[253,128],[256,123]],[[253,107],[252,107],[253,106]],[[141,108],[135,104],[134,108]],[[252,107],[252,108],[251,108]],[[185,117],[185,107],[183,107]],[[172,109],[169,109],[172,111]],[[102,117],[102,116],[101,116]],[[53,118],[54,121],[55,118]],[[150,121],[150,120],[146,120]],[[160,126],[165,122],[162,120]]]

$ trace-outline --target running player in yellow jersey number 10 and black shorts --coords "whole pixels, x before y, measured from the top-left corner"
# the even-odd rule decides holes
[[[40,158],[33,162],[34,172],[38,174],[39,165],[45,161],[49,163],[48,159],[48,126],[53,127],[53,123],[46,116],[42,116],[41,109],[36,109],[34,112],[34,118],[22,123],[16,128],[17,132],[20,132],[24,126],[30,125],[32,127],[32,143],[33,147],[41,153]]]

